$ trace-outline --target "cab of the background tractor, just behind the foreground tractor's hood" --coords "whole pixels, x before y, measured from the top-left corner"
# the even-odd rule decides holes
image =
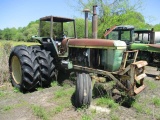
[[[109,31],[107,29],[106,31]],[[134,26],[131,25],[120,25],[113,27],[113,30],[106,36],[107,39],[111,40],[122,40],[127,45],[133,42]]]

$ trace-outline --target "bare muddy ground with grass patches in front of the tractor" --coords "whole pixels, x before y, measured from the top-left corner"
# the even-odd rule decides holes
[[[110,112],[94,109],[75,109],[74,85],[39,88],[31,93],[20,93],[10,83],[0,88],[0,120],[160,120],[160,81],[154,78],[159,72],[146,67],[146,88],[129,101],[130,106],[103,105]],[[97,99],[92,106],[97,106]]]

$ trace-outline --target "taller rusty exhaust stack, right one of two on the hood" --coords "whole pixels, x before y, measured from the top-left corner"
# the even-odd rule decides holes
[[[92,16],[92,38],[97,38],[97,25],[98,25],[98,16],[96,13],[97,5],[93,6],[93,16]]]

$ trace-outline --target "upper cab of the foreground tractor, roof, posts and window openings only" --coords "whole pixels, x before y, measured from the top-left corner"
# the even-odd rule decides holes
[[[57,16],[42,17],[38,36],[50,37],[55,41],[62,41],[66,37],[76,38],[75,20]]]

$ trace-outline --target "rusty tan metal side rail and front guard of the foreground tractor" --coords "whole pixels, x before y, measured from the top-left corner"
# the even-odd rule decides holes
[[[144,67],[147,65],[146,63],[146,61],[138,61],[128,65],[124,69],[120,69],[117,72],[108,72],[105,70],[83,67],[79,65],[73,65],[73,68],[76,70],[108,76],[111,80],[115,81],[120,88],[124,89],[128,95],[134,96],[143,91],[145,88],[143,80],[146,77],[144,69]],[[117,75],[119,77],[116,77]],[[99,81],[99,78],[96,77],[96,81]],[[128,84],[126,84],[124,81],[128,81]],[[138,86],[137,83],[139,84]]]

